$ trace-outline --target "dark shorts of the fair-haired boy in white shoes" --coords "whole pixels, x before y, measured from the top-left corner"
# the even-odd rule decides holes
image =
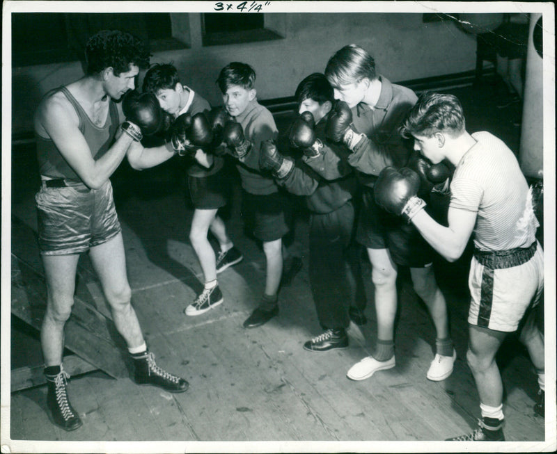
[[[434,250],[414,225],[375,203],[372,188],[362,190],[356,241],[368,249],[388,249],[398,266],[423,268],[434,258]]]

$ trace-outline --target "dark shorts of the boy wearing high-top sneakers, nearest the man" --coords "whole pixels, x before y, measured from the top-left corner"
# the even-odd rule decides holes
[[[196,209],[219,209],[228,203],[230,181],[224,170],[206,177],[188,175],[187,184],[191,203]]]

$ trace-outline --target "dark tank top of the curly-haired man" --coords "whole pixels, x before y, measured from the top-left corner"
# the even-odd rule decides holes
[[[55,92],[61,91],[68,98],[68,101],[74,106],[77,116],[79,117],[79,131],[84,135],[89,149],[91,149],[91,156],[93,159],[99,159],[104,153],[107,152],[113,142],[116,130],[120,124],[118,119],[118,108],[116,104],[109,101],[109,115],[104,126],[97,127],[88,117],[84,109],[81,107],[77,99],[73,97],[68,88],[60,87],[45,95],[45,97],[53,95]],[[50,138],[42,138],[36,134],[37,137],[37,159],[39,163],[40,175],[49,178],[64,178],[74,179],[80,181],[81,179],[72,170],[68,162],[54,145]]]

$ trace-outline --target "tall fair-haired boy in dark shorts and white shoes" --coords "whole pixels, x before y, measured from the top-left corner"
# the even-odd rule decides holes
[[[386,213],[373,197],[379,172],[387,165],[405,165],[409,159],[410,149],[398,128],[417,97],[377,74],[375,60],[355,44],[329,59],[325,76],[339,100],[329,113],[325,133],[332,142],[343,144],[345,161],[357,171],[362,205],[356,241],[368,249],[377,314],[377,342],[371,355],[352,366],[347,377],[364,380],[395,367],[396,278],[398,266],[408,266],[414,290],[429,309],[437,334],[435,356],[426,377],[445,380],[453,372],[456,352],[448,330],[445,298],[432,268],[434,251],[414,227]],[[334,153],[319,153],[307,163],[325,176],[320,169],[337,168],[340,161]]]

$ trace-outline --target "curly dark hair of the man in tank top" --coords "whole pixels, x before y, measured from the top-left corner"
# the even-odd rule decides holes
[[[130,63],[146,68],[150,54],[145,44],[130,33],[102,30],[93,35],[85,48],[87,74],[96,74],[112,67],[114,75],[130,71]]]

